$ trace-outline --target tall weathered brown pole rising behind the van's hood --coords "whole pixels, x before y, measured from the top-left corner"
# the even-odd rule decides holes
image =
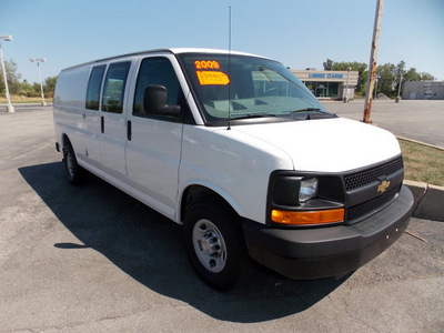
[[[373,40],[372,40],[372,50],[370,53],[370,75],[367,81],[367,91],[365,93],[365,109],[363,122],[371,123],[370,114],[372,113],[372,97],[374,89],[374,81],[376,75],[376,57],[377,57],[377,44],[380,43],[380,32],[381,32],[381,22],[382,22],[382,12],[384,9],[384,0],[377,0],[376,2],[376,12],[375,12],[375,22],[373,28]]]

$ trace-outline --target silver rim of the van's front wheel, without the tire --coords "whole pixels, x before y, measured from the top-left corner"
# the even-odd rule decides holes
[[[193,229],[193,246],[201,264],[213,273],[226,263],[226,246],[222,233],[209,220],[199,220]]]

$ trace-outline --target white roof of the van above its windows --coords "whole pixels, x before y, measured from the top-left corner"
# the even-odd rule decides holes
[[[219,49],[200,49],[200,48],[171,48],[171,49],[153,49],[153,50],[147,50],[147,51],[139,51],[139,52],[133,52],[133,53],[127,53],[127,54],[121,54],[121,56],[114,56],[114,57],[108,57],[108,58],[102,58],[98,60],[92,60],[88,61],[84,63],[75,64],[72,67],[68,67],[64,70],[78,68],[78,67],[83,67],[88,64],[94,64],[98,62],[103,62],[103,61],[110,61],[114,59],[120,59],[120,58],[128,58],[128,57],[134,57],[134,56],[142,56],[142,54],[152,54],[152,53],[172,53],[172,54],[181,54],[181,53],[219,53],[219,54],[235,54],[235,56],[252,56],[252,57],[259,57],[259,58],[264,58],[262,56],[258,54],[252,54],[252,53],[245,53],[245,52],[239,52],[239,51],[228,51],[228,50],[219,50]]]

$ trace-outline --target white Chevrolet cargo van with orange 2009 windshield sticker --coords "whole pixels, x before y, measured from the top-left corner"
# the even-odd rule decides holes
[[[249,256],[292,279],[342,275],[406,229],[389,132],[327,112],[281,63],[154,50],[61,71],[57,150],[183,225],[196,273],[226,290]]]

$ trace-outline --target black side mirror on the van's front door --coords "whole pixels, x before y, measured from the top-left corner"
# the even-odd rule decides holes
[[[143,94],[143,110],[149,114],[179,115],[180,105],[168,104],[168,91],[163,85],[151,84]]]

